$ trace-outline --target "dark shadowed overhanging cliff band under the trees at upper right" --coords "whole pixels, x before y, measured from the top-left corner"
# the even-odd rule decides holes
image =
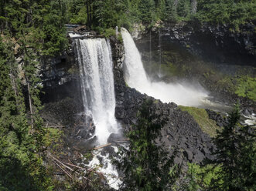
[[[197,22],[165,24],[162,37],[181,43],[190,52],[205,59],[239,65],[256,64],[255,25],[248,23],[235,32],[228,25],[208,25]],[[159,32],[158,32],[159,33]]]

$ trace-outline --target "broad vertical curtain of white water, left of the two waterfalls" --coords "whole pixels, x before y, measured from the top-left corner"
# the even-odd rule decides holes
[[[97,142],[117,132],[111,47],[105,39],[76,39],[84,110],[94,119]]]

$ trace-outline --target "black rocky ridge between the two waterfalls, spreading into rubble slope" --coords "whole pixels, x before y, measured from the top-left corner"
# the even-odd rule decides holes
[[[186,164],[188,161],[201,163],[204,159],[213,159],[211,151],[215,146],[210,136],[200,129],[188,112],[183,112],[173,102],[162,103],[126,85],[121,64],[125,55],[124,48],[115,39],[111,39],[111,46],[114,58],[115,117],[123,123],[125,131],[132,130],[132,126],[136,125],[137,113],[143,102],[152,99],[152,111],[160,116],[160,120],[167,121],[161,130],[161,136],[155,142],[169,146],[170,154],[172,154],[171,148],[177,148],[179,154],[176,156],[176,163]]]

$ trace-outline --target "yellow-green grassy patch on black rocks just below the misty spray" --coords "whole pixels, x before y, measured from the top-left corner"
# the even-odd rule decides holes
[[[217,135],[216,130],[220,130],[220,127],[216,125],[216,122],[209,119],[208,113],[205,109],[179,106],[183,111],[189,112],[191,116],[196,120],[203,132],[206,132],[210,137]]]

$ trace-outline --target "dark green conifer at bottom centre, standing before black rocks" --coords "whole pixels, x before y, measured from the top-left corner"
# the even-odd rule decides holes
[[[145,101],[138,113],[138,125],[128,133],[129,149],[122,149],[118,167],[125,173],[125,190],[166,190],[176,182],[178,166],[163,146],[155,144],[164,121],[152,113],[152,100]]]

